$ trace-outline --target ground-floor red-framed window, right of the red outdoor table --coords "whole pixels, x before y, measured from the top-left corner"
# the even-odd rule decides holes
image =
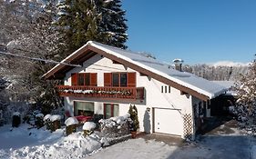
[[[113,116],[119,115],[119,105],[118,104],[104,104],[104,117],[108,119]]]

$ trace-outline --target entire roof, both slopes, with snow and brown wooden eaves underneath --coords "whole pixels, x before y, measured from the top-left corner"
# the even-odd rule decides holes
[[[219,84],[210,83],[208,80],[189,73],[174,71],[155,59],[95,42],[89,42],[87,45],[82,46],[62,62],[81,65],[94,55],[107,57],[115,64],[124,65],[138,71],[141,75],[148,75],[159,82],[180,90],[180,94],[191,94],[204,101],[225,92],[225,89]],[[56,65],[44,77],[46,79],[63,79],[67,71],[73,68],[73,66]]]

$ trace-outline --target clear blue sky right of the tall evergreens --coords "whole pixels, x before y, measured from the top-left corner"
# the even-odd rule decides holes
[[[128,48],[159,61],[248,63],[256,54],[256,0],[123,0]]]

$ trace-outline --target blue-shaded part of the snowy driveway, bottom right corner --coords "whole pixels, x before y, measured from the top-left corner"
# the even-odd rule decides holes
[[[254,159],[253,137],[250,136],[202,136],[197,144],[179,148],[171,159]]]

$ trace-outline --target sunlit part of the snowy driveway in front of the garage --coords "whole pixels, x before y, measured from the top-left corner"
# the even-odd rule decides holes
[[[159,159],[168,158],[175,152],[177,146],[169,146],[162,142],[145,139],[130,139],[123,143],[109,146],[96,154],[91,154],[88,159]]]

